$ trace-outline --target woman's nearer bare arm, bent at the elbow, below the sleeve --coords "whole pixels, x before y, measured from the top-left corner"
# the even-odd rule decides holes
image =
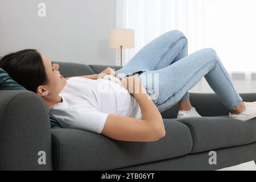
[[[141,107],[142,118],[137,119],[109,114],[101,134],[109,138],[133,142],[153,142],[165,136],[166,131],[162,115],[154,102],[149,99],[141,84],[140,87],[141,92],[131,93],[131,95]]]

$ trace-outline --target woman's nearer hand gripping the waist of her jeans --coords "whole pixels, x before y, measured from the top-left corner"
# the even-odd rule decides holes
[[[126,88],[132,96],[138,93],[146,93],[141,78],[139,78],[137,75],[121,77],[121,83],[122,86]]]

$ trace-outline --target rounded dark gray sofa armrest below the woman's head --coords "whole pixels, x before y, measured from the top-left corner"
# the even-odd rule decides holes
[[[0,90],[0,170],[51,170],[50,132],[40,96],[27,90]]]

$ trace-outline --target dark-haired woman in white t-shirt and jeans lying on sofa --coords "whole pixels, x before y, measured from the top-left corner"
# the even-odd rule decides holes
[[[63,78],[59,65],[34,49],[6,55],[0,67],[41,96],[62,127],[117,140],[163,138],[160,112],[177,103],[177,118],[201,117],[189,102],[188,90],[203,77],[230,110],[229,117],[256,117],[256,102],[242,101],[216,52],[207,48],[187,55],[187,48],[184,34],[174,30],[152,40],[116,72],[107,68],[99,75]],[[117,77],[121,80],[113,81]]]

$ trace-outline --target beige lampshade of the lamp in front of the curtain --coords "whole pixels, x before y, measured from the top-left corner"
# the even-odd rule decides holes
[[[128,28],[114,28],[109,32],[110,48],[133,48],[134,30]]]

